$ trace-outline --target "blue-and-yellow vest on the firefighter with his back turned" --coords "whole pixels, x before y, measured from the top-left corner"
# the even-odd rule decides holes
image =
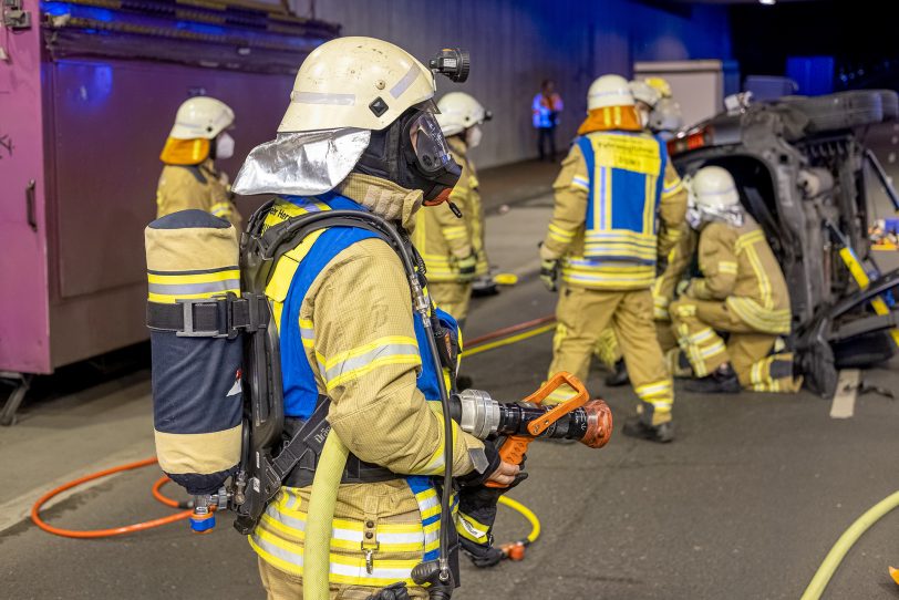
[[[596,132],[576,143],[587,162],[583,258],[654,266],[655,215],[668,153],[645,133]]]

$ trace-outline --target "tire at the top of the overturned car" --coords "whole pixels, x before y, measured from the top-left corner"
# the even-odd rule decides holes
[[[782,101],[805,113],[808,131],[815,133],[880,123],[884,121],[884,95],[877,90],[858,90],[816,97],[785,96]]]

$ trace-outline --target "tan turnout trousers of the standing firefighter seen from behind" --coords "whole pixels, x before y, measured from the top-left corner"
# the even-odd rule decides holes
[[[568,371],[587,380],[593,349],[611,325],[640,399],[638,413],[651,425],[671,421],[674,393],[652,319],[652,293],[644,290],[590,290],[566,286],[556,308],[558,327],[552,340],[549,376]],[[550,396],[561,402],[562,390]]]

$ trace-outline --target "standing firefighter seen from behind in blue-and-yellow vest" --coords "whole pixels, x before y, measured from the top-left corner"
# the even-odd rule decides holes
[[[640,399],[624,433],[671,442],[674,392],[650,288],[658,257],[678,242],[686,193],[664,144],[643,131],[627,80],[599,77],[587,103],[588,117],[554,184],[552,220],[540,246],[545,283],[555,290],[559,271],[562,280],[549,374],[586,379],[596,342],[611,324]]]

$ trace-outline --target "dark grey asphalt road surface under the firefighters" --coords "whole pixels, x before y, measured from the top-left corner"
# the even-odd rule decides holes
[[[555,306],[536,276],[549,197],[502,204],[488,219],[488,249],[500,271],[520,280],[475,300],[469,338]],[[463,372],[494,397],[517,400],[540,384],[550,358],[547,333],[477,354]],[[897,366],[864,376],[897,390]],[[628,387],[606,389],[602,376],[597,369],[587,384],[612,406],[619,423],[612,441],[598,451],[531,445],[530,477],[510,496],[539,516],[542,536],[521,562],[464,565],[455,598],[797,599],[839,535],[897,489],[897,401],[861,395],[851,418],[835,420],[830,402],[807,392],[701,396],[679,386],[678,438],[657,445],[620,434],[636,396]],[[262,598],[255,556],[227,516],[206,536],[169,525],[99,540],[50,536],[21,518],[42,489],[152,454],[145,365],[25,404],[20,423],[0,430],[0,598]],[[152,467],[112,477],[44,517],[95,528],[168,515],[149,494],[158,476]],[[500,508],[499,541],[527,530]],[[899,566],[897,531],[899,511],[861,538],[824,598],[899,598],[887,571]]]

